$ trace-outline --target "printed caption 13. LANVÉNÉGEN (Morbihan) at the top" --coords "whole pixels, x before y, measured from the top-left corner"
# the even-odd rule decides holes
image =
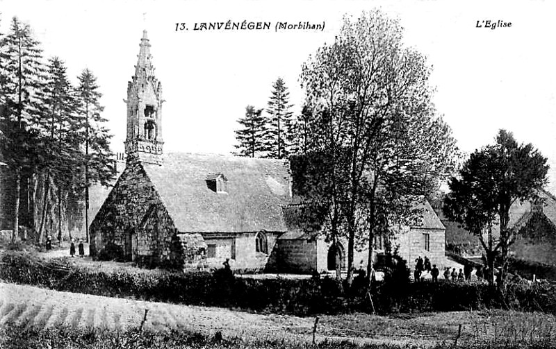
[[[189,26],[185,23],[176,23],[175,31],[188,31]],[[193,24],[193,31],[270,31],[273,28],[275,31],[324,31],[325,22],[311,23],[305,22],[195,22]]]

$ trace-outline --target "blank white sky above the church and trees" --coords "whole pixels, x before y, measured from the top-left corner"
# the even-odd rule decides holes
[[[342,16],[382,8],[398,17],[405,42],[433,66],[434,103],[466,152],[493,142],[499,128],[531,142],[550,162],[556,193],[556,45],[550,1],[7,1],[11,17],[31,24],[44,56],[65,60],[70,78],[85,67],[98,78],[104,117],[123,151],[127,81],[142,30],[151,40],[163,84],[165,151],[234,151],[236,120],[248,104],[263,108],[271,84],[284,78],[294,111],[303,101],[300,67],[332,42]],[[511,28],[475,28],[477,20]],[[271,31],[193,31],[195,22],[271,22]],[[325,31],[281,31],[276,22],[321,24]],[[175,31],[186,22],[188,31]]]

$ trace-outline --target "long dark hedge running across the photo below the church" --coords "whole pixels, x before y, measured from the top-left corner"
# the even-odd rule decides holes
[[[143,300],[237,307],[256,312],[297,315],[370,311],[366,284],[344,291],[334,278],[306,280],[235,278],[226,269],[213,273],[120,269],[106,273],[74,266],[69,257],[45,261],[31,253],[1,253],[0,278],[58,291]],[[504,295],[488,284],[470,282],[409,282],[403,263],[373,284],[375,310],[395,312],[459,311],[482,308],[541,311],[556,314],[556,284],[509,284]]]

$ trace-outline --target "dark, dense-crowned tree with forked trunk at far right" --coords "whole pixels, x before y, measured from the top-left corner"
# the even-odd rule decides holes
[[[518,233],[508,227],[509,209],[516,201],[534,198],[546,184],[546,161],[532,144],[518,144],[512,133],[500,130],[495,144],[471,154],[459,177],[450,180],[443,211],[479,238],[491,270],[491,284],[498,254],[502,259],[500,287],[505,284],[509,247]],[[493,225],[500,230],[498,240],[493,239]]]

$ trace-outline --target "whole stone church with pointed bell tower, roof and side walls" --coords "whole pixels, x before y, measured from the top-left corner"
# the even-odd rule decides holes
[[[286,160],[163,153],[162,86],[146,31],[127,86],[126,165],[90,225],[90,254],[144,265],[221,266],[311,273],[334,269],[322,222],[300,221]],[[445,265],[445,228],[429,203],[395,244],[410,265]],[[338,244],[342,265],[347,254]],[[382,248],[382,241],[377,241]],[[367,253],[354,264],[366,266]]]

